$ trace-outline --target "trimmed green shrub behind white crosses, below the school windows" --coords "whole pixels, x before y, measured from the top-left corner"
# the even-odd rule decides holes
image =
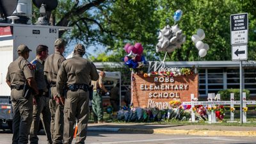
[[[250,97],[250,90],[243,90],[243,92],[246,92],[246,99]],[[230,93],[234,93],[235,100],[240,100],[240,89],[227,89],[227,90],[220,90],[218,93],[220,93],[221,100],[230,100]]]

